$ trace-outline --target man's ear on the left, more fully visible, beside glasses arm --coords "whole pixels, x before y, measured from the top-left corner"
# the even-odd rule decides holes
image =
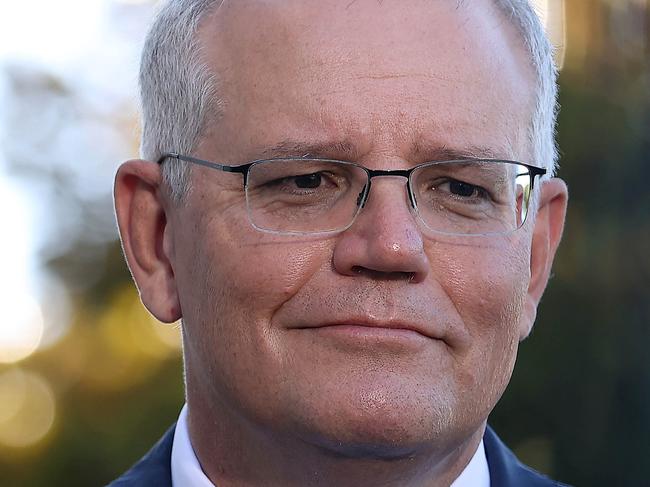
[[[157,164],[141,160],[122,164],[115,176],[115,213],[142,303],[157,319],[171,323],[180,319],[181,308],[170,262],[172,245],[161,181]]]

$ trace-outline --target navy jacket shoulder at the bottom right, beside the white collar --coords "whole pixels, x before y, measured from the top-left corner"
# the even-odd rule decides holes
[[[570,487],[521,463],[489,426],[483,436],[491,487]]]

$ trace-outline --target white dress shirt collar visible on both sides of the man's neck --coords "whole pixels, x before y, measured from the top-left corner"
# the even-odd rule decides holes
[[[173,487],[215,487],[201,470],[187,428],[187,404],[181,409],[172,444]],[[483,440],[476,453],[450,487],[490,487],[490,472]]]

